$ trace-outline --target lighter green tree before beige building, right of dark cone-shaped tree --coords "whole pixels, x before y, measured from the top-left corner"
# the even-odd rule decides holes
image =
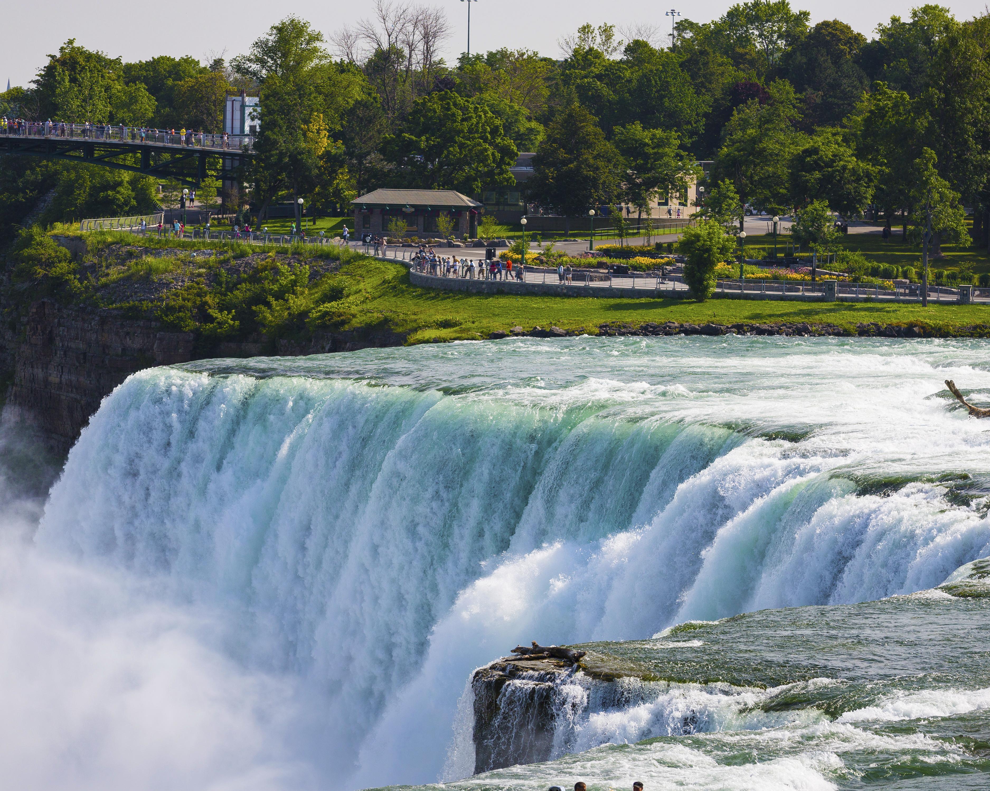
[[[615,130],[613,142],[624,159],[623,192],[640,216],[657,193],[680,192],[687,187],[693,166],[686,151],[678,147],[676,132],[645,130],[637,121]]]

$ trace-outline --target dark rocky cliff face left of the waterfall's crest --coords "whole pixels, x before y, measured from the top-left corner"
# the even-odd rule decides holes
[[[9,385],[7,403],[57,453],[67,453],[100,401],[143,368],[197,357],[295,356],[396,346],[405,336],[321,332],[306,343],[224,343],[197,351],[189,332],[163,329],[156,321],[119,311],[34,303],[20,326],[4,327],[0,370]]]

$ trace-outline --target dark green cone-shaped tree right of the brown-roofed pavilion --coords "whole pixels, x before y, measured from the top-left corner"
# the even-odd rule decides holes
[[[564,108],[546,128],[533,160],[530,194],[568,218],[610,203],[619,191],[619,152],[580,105]]]

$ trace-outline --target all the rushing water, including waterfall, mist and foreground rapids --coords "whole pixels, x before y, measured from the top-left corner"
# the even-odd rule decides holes
[[[916,594],[990,555],[990,421],[945,379],[990,391],[985,342],[510,339],[137,374],[0,558],[0,678],[28,679],[0,694],[0,770],[981,787],[986,600]],[[461,780],[465,682],[531,639],[660,680],[576,706],[556,760]]]

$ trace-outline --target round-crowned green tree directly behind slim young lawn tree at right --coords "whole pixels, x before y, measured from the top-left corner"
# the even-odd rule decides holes
[[[874,179],[874,169],[834,129],[816,132],[791,159],[795,206],[824,200],[842,216],[856,217],[872,200]]]

